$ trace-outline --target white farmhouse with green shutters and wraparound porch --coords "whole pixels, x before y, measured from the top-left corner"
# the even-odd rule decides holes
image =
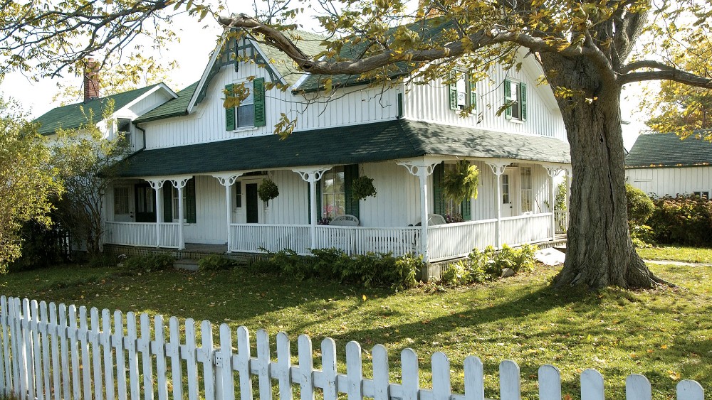
[[[298,45],[319,53],[323,38],[299,36]],[[336,247],[432,262],[474,247],[552,240],[553,176],[570,170],[569,146],[552,90],[538,85],[538,63],[522,61],[476,85],[463,77],[368,87],[358,77],[298,72],[250,38],[219,45],[198,82],[128,117],[136,151],[107,201],[106,242],[300,254]],[[335,92],[327,102],[328,78]],[[226,109],[226,90],[243,82],[248,98]],[[276,82],[289,89],[266,90]],[[503,104],[511,107],[497,115]],[[460,117],[469,105],[474,111]],[[285,140],[273,134],[282,114],[295,121]],[[441,180],[460,160],[480,171],[478,197],[454,204]],[[377,195],[353,200],[362,175]],[[279,195],[262,202],[266,179]],[[464,222],[444,223],[454,215]]]

